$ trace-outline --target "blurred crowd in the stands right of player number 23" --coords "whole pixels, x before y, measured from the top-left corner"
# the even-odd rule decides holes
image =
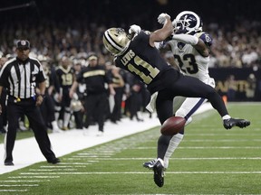
[[[247,68],[261,66],[261,22],[242,21],[224,26],[209,23],[214,43],[209,67]]]

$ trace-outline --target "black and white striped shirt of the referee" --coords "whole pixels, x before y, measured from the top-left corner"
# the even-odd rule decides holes
[[[34,58],[8,60],[0,72],[0,86],[7,88],[8,95],[15,98],[34,97],[36,84],[44,80],[43,67]]]

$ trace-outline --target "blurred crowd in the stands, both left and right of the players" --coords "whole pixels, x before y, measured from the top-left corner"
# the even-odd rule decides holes
[[[48,56],[59,61],[64,55],[86,59],[89,52],[95,52],[100,63],[112,61],[104,50],[102,33],[109,27],[87,21],[54,23],[43,21],[18,25],[9,23],[0,31],[0,52],[12,56],[17,39],[28,39],[32,55]],[[110,26],[111,27],[111,26]],[[128,25],[124,26],[128,28]],[[242,20],[240,23],[204,23],[214,42],[211,47],[209,67],[253,67],[261,65],[261,22]],[[126,29],[127,30],[127,29]],[[58,63],[58,62],[57,62]]]

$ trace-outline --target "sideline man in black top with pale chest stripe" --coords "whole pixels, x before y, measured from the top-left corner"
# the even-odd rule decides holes
[[[98,135],[103,135],[104,126],[104,108],[108,104],[107,89],[104,87],[108,84],[110,94],[115,95],[115,90],[112,86],[111,78],[108,76],[105,67],[99,64],[99,59],[96,54],[90,54],[88,57],[89,66],[82,68],[77,75],[77,79],[73,82],[70,89],[70,98],[73,98],[73,93],[78,88],[79,83],[86,84],[85,106],[85,123],[84,127],[88,128],[91,124],[91,117],[97,121],[99,125]]]

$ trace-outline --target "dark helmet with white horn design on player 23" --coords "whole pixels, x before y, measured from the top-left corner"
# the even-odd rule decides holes
[[[198,14],[191,11],[183,11],[172,22],[175,33],[195,34],[202,32],[202,20]]]

